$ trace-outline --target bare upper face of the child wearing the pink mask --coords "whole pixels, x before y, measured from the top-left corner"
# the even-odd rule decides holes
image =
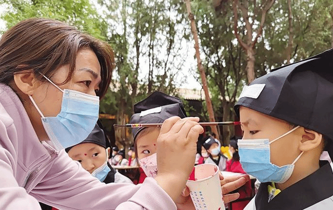
[[[160,129],[154,129],[137,137],[137,157],[139,160],[157,152],[156,141],[159,131]]]

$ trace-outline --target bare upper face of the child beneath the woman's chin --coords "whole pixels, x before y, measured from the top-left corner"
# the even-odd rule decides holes
[[[110,153],[110,148],[107,149]],[[82,167],[89,173],[94,172],[106,161],[105,149],[94,143],[78,144],[68,151],[68,155],[81,163]]]

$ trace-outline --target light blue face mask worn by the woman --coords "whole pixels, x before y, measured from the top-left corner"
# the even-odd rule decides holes
[[[98,120],[99,97],[74,90],[61,90],[44,76],[62,93],[61,111],[56,117],[45,117],[31,95],[32,103],[41,115],[41,122],[57,151],[74,146],[91,133]]]

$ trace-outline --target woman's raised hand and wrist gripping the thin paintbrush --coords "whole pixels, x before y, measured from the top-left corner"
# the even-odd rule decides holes
[[[196,141],[203,128],[198,117],[166,119],[157,138],[158,185],[176,201],[196,160]]]

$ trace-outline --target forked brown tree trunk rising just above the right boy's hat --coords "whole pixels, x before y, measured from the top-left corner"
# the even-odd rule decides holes
[[[272,7],[275,0],[267,0],[266,2],[262,2],[262,4],[257,5],[256,1],[254,1],[253,5],[253,11],[249,12],[250,6],[249,1],[244,0],[242,2],[239,2],[238,0],[235,0],[233,3],[233,10],[234,10],[234,32],[235,36],[240,43],[240,45],[243,47],[243,49],[246,51],[247,55],[247,65],[246,65],[246,72],[247,72],[247,78],[248,82],[251,83],[255,79],[255,44],[258,41],[259,36],[262,33],[262,28],[265,23],[265,18],[268,10]],[[246,40],[244,41],[242,38],[240,38],[238,33],[238,11],[237,9],[240,9],[242,13],[242,19],[245,21],[246,26]],[[257,25],[257,30],[254,30],[254,24],[256,23],[255,17],[260,16],[261,13],[261,19],[260,23]],[[252,20],[252,21],[251,21]],[[251,21],[251,22],[250,22]],[[254,38],[255,36],[255,38]]]

